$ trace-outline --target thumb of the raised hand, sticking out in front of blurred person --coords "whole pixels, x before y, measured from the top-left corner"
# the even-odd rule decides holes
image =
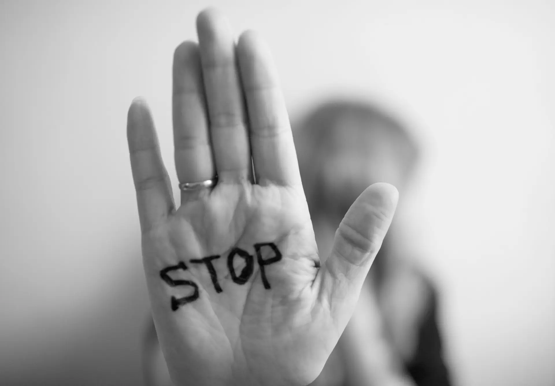
[[[362,283],[380,250],[397,206],[394,186],[379,182],[367,187],[347,211],[335,233],[334,247],[322,266],[321,301],[345,327]]]

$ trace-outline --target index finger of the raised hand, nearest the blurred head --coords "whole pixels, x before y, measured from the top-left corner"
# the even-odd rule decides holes
[[[284,97],[270,49],[245,32],[237,55],[249,112],[250,144],[258,184],[300,184],[299,165]]]

